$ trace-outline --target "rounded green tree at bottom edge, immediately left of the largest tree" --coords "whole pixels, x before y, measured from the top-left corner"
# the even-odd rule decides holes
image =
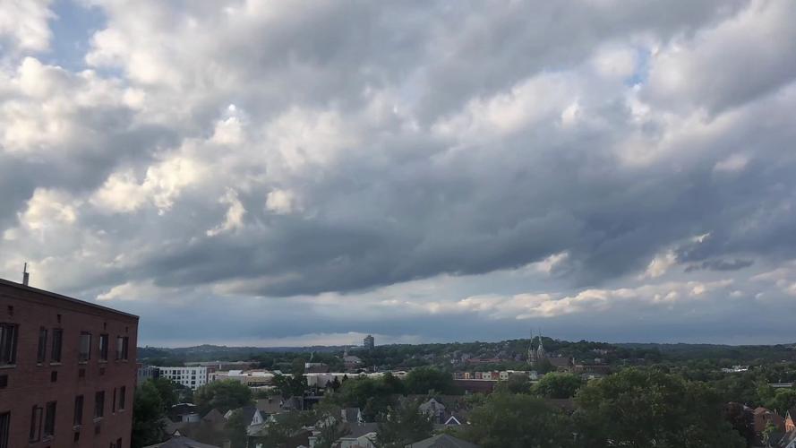
[[[569,418],[544,400],[523,394],[493,393],[470,413],[463,435],[483,448],[574,446]]]

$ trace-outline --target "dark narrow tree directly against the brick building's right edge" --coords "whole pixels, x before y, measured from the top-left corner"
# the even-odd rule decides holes
[[[146,381],[135,390],[133,397],[133,448],[157,444],[163,435],[166,416],[163,399],[155,383]]]

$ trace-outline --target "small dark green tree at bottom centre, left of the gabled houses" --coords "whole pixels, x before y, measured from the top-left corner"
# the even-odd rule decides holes
[[[373,444],[378,448],[404,448],[430,437],[433,427],[431,417],[420,410],[420,401],[408,401],[389,409],[381,418]]]

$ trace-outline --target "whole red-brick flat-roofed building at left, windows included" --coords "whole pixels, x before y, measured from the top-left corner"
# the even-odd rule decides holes
[[[0,280],[0,448],[129,448],[138,316]]]

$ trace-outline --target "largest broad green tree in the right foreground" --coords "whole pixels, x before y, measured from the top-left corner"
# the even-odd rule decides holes
[[[576,397],[579,446],[742,447],[719,395],[704,383],[629,368],[584,386]]]

